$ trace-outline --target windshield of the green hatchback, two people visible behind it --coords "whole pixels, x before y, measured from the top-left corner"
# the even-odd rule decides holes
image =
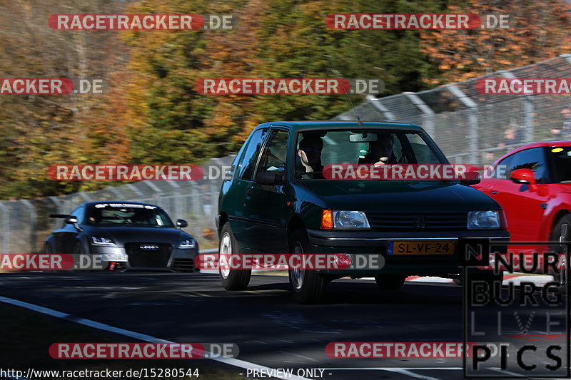
[[[295,178],[323,179],[325,165],[440,164],[421,133],[383,129],[310,130],[298,135]]]

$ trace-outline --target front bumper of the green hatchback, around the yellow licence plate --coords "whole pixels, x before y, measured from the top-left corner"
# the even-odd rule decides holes
[[[323,274],[375,276],[378,274],[403,274],[430,276],[459,274],[462,264],[455,249],[453,255],[388,255],[387,247],[393,241],[452,241],[458,248],[460,239],[478,238],[493,242],[508,242],[506,230],[472,230],[449,232],[376,232],[376,231],[324,231],[308,230],[310,253],[348,253],[380,255],[384,265],[380,269],[320,270]],[[493,246],[493,252],[505,253],[507,245]]]

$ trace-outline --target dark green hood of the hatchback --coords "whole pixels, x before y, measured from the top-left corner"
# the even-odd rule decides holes
[[[333,210],[468,212],[500,205],[470,186],[445,181],[310,181],[298,183]]]

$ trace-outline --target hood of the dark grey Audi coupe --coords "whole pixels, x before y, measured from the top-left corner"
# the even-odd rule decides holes
[[[118,245],[123,245],[127,242],[178,244],[184,237],[189,236],[186,232],[176,228],[85,226],[85,230],[91,236],[111,238]]]

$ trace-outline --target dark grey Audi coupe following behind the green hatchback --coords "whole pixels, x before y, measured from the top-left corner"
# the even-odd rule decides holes
[[[63,225],[49,235],[44,253],[98,255],[103,267],[194,271],[198,242],[173,224],[156,205],[138,202],[86,202],[71,214],[55,214]]]

